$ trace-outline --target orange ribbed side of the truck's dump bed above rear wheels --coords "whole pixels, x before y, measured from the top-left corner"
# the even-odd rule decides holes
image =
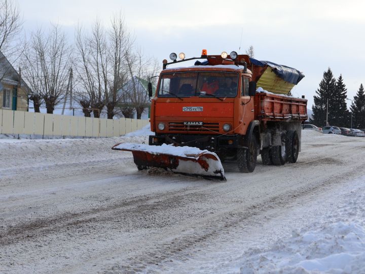
[[[298,119],[305,121],[307,99],[258,92],[255,95],[255,117],[262,121],[285,121]]]

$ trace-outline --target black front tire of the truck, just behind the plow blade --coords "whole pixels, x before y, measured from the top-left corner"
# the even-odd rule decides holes
[[[248,149],[237,149],[237,164],[240,172],[251,173],[257,162],[257,142],[252,136]]]

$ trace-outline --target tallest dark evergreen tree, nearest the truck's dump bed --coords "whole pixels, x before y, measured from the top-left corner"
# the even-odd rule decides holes
[[[326,112],[327,112],[327,99],[329,100],[329,112],[328,121],[331,121],[331,101],[332,96],[335,94],[336,79],[334,78],[331,68],[323,73],[323,79],[319,83],[319,88],[316,91],[317,95],[314,95],[314,105],[312,106],[313,115],[311,122],[316,126],[326,125]]]

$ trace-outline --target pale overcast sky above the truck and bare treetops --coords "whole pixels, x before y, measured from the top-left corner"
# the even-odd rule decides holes
[[[252,45],[255,58],[295,67],[305,78],[293,89],[304,94],[308,108],[331,67],[344,78],[353,99],[365,83],[363,1],[141,1],[141,0],[18,0],[27,35],[58,23],[72,40],[78,23],[96,17],[103,24],[121,11],[136,43],[162,64],[171,52],[187,58],[208,54],[244,53]],[[241,48],[241,50],[239,50]]]

